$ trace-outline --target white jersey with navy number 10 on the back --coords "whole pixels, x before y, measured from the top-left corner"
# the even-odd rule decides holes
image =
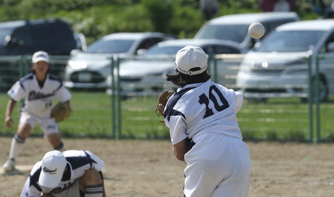
[[[209,79],[179,88],[164,109],[172,144],[205,132],[220,132],[242,139],[236,113],[242,94]]]

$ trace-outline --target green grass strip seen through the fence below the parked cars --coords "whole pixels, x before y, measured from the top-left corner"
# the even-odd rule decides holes
[[[97,137],[112,136],[111,97],[103,92],[72,92],[71,105],[73,114],[59,123],[63,137]],[[0,120],[8,96],[0,94]],[[334,129],[331,123],[334,117],[333,98],[321,103],[321,136],[325,140],[334,140]],[[0,135],[13,135],[17,129],[19,107],[14,109],[12,118],[14,127],[8,129],[0,124]],[[115,100],[117,106],[117,100]],[[169,131],[154,113],[156,98],[130,98],[121,101],[122,138],[168,139]],[[267,102],[244,101],[237,114],[239,126],[246,140],[293,140],[304,141],[309,138],[308,103],[297,98],[268,99]],[[115,109],[115,117],[118,111]],[[315,114],[315,112],[314,112]],[[315,120],[315,119],[314,119]],[[115,119],[117,136],[118,119]],[[315,128],[315,125],[314,125]],[[39,127],[32,132],[33,136],[42,136]],[[315,134],[314,134],[315,136]]]

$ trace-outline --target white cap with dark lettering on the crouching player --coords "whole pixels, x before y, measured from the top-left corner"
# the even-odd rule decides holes
[[[55,188],[62,180],[66,167],[66,159],[60,151],[47,152],[42,159],[38,184],[47,188]]]

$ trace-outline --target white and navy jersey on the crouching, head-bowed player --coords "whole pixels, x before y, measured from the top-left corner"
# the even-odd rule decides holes
[[[41,192],[58,194],[70,189],[86,170],[94,168],[101,171],[105,163],[90,151],[69,150],[63,152],[68,170],[64,173],[62,181],[55,188],[46,188],[38,184],[42,161],[37,162],[24,185],[20,197],[40,197]]]

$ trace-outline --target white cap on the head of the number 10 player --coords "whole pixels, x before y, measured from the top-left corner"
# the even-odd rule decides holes
[[[202,48],[186,46],[178,51],[175,58],[175,66],[179,72],[195,75],[200,74],[208,67],[208,57]],[[190,71],[191,68],[200,67],[199,70]]]

